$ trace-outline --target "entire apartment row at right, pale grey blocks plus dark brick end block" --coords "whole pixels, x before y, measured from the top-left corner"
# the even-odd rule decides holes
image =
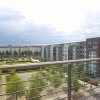
[[[82,42],[45,45],[42,48],[42,57],[46,61],[64,61],[84,58],[100,57],[100,37],[88,38]],[[100,74],[100,61],[84,63],[84,70],[94,76]]]

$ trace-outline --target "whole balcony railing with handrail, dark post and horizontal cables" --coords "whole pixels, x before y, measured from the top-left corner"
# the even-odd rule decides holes
[[[99,83],[83,71],[91,61],[100,58],[0,66],[0,100],[100,99]]]

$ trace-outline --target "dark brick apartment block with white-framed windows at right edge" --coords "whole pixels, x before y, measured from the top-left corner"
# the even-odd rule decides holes
[[[100,57],[100,37],[86,39],[86,58]],[[100,74],[100,61],[91,61],[87,64],[87,70],[95,75]]]

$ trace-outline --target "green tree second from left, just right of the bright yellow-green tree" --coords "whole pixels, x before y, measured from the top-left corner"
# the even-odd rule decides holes
[[[27,98],[31,98],[31,100],[40,100],[40,93],[43,90],[42,86],[45,86],[46,83],[42,79],[42,76],[38,73],[35,73],[31,77],[30,90],[28,91]]]

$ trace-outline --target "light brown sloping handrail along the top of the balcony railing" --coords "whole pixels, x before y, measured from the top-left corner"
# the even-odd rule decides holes
[[[45,65],[72,64],[72,63],[89,62],[89,61],[100,61],[100,58],[78,59],[78,60],[67,60],[67,61],[53,61],[53,62],[40,62],[40,63],[32,63],[32,64],[2,65],[2,66],[0,66],[0,70],[34,68],[34,66],[41,66],[42,67]]]

